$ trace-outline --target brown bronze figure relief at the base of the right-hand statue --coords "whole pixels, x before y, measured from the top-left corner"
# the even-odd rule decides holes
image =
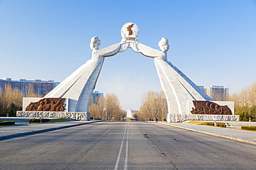
[[[221,115],[232,115],[230,108],[225,105],[221,106],[217,103],[210,101],[199,101],[193,100],[194,107],[192,107],[191,114],[221,114]]]

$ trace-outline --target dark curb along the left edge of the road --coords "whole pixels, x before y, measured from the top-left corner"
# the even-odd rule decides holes
[[[80,125],[86,125],[86,124],[97,123],[97,122],[100,122],[100,121],[86,122],[86,123],[81,123],[81,124],[77,124],[77,125],[67,125],[67,126],[63,126],[63,127],[53,127],[53,128],[50,128],[50,129],[42,129],[42,130],[38,130],[38,131],[28,131],[28,132],[24,132],[24,133],[20,133],[20,134],[12,134],[12,135],[7,135],[7,136],[1,136],[0,140],[1,139],[6,139],[6,138],[14,138],[14,137],[17,137],[17,136],[25,136],[25,135],[30,135],[30,134],[39,134],[39,133],[46,132],[46,131],[55,131],[55,130],[58,130],[58,129],[66,129],[66,128],[69,128],[69,127],[77,127],[77,126],[80,126]]]

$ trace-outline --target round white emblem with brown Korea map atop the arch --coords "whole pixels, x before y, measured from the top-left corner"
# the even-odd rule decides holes
[[[138,26],[135,23],[125,23],[121,28],[122,41],[136,41]]]

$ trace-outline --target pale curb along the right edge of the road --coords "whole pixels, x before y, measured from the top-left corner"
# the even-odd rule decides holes
[[[199,132],[201,134],[208,134],[208,135],[211,135],[211,136],[217,136],[217,137],[221,137],[221,138],[227,138],[227,139],[231,139],[231,140],[237,140],[239,142],[246,142],[246,143],[250,143],[250,144],[256,145],[256,142],[253,142],[253,141],[250,141],[250,140],[244,140],[244,139],[234,138],[234,137],[230,137],[230,136],[212,134],[212,133],[206,132],[206,131],[199,131],[199,130],[190,129],[190,128],[187,128],[187,127],[179,127],[179,126],[176,126],[176,125],[169,125],[169,124],[166,124],[166,123],[161,123],[161,124],[168,125],[168,126],[171,126],[171,127],[177,127],[177,128],[185,129],[185,130],[189,130],[189,131],[195,131],[195,132]]]

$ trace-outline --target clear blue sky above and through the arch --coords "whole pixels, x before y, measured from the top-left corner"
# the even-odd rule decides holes
[[[91,37],[100,48],[118,43],[127,22],[149,47],[168,39],[168,61],[196,85],[232,94],[256,81],[255,0],[0,0],[0,78],[63,81],[91,59]],[[95,90],[138,109],[161,85],[153,59],[128,49],[105,59]]]

